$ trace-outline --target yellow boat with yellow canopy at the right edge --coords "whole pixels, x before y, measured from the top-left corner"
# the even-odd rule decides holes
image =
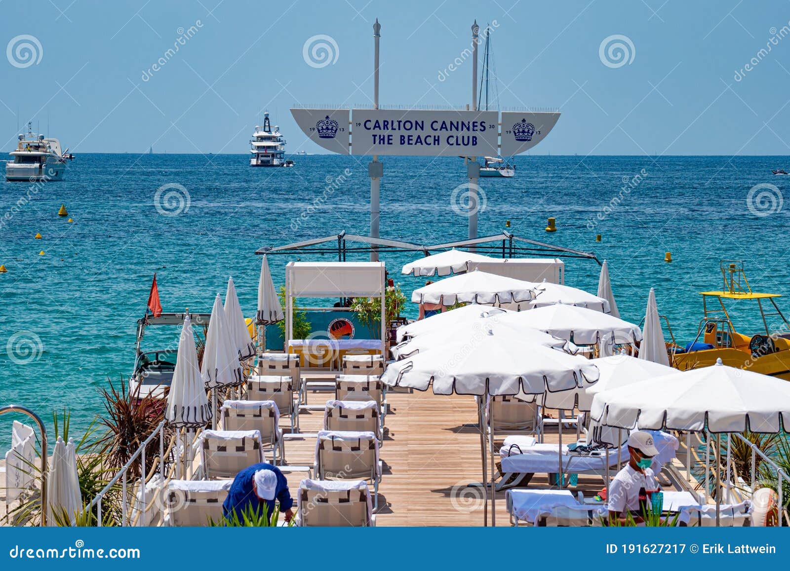
[[[685,346],[673,342],[668,347],[674,366],[679,370],[696,369],[721,359],[724,365],[790,381],[790,323],[777,306],[776,299],[781,295],[752,291],[742,261],[722,260],[720,271],[721,290],[700,292],[703,317],[697,336]],[[756,302],[759,316],[752,321],[759,320],[765,329],[754,335],[737,332],[732,324],[732,307],[728,309],[725,301]],[[742,315],[742,308],[738,309]]]

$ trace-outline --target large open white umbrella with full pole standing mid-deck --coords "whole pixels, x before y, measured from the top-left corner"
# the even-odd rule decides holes
[[[487,479],[483,424],[486,396],[543,395],[547,392],[572,390],[595,382],[598,370],[581,356],[521,343],[512,332],[487,329],[480,338],[446,344],[436,351],[425,351],[387,366],[382,381],[434,394],[453,393],[479,396],[480,445],[483,454],[483,479]],[[492,414],[492,412],[490,413]],[[493,422],[493,419],[491,419]],[[491,438],[491,434],[489,435]],[[491,489],[494,489],[494,450],[491,449]],[[487,495],[483,501],[488,506]],[[495,497],[491,498],[492,523],[495,519]]]

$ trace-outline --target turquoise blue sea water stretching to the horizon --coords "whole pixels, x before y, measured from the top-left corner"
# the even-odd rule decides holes
[[[66,406],[76,427],[84,427],[101,411],[98,388],[107,378],[130,374],[135,323],[145,312],[153,272],[166,311],[209,311],[233,276],[251,316],[260,270],[256,249],[341,230],[367,235],[368,159],[292,158],[292,169],[255,169],[243,155],[85,154],[69,164],[63,182],[38,190],[0,182],[0,264],[8,268],[0,273],[0,404],[23,404],[46,419]],[[467,220],[450,202],[453,188],[465,182],[461,160],[383,162],[383,237],[423,244],[466,238]],[[721,258],[745,261],[755,289],[790,293],[787,210],[756,216],[747,205],[758,184],[776,185],[779,194],[768,190],[774,198],[788,192],[790,177],[770,172],[788,162],[521,156],[515,178],[481,179],[479,235],[497,234],[510,220],[516,235],[608,259],[622,316],[638,322],[655,287],[660,312],[685,343],[702,313],[696,292],[720,286]],[[624,191],[623,178],[633,184],[636,175],[641,180]],[[326,190],[333,182],[337,189]],[[188,208],[177,216],[164,216],[155,205],[156,190],[167,184],[189,193]],[[28,193],[31,201],[15,206]],[[322,206],[314,207],[316,197]],[[73,224],[58,217],[61,203]],[[611,213],[604,215],[605,207]],[[761,208],[772,209],[768,201],[753,205]],[[164,211],[172,213],[167,206]],[[544,231],[547,216],[557,219],[553,234]],[[43,239],[34,239],[36,232]],[[672,264],[664,262],[666,251]],[[293,259],[272,257],[276,284]],[[398,275],[408,255],[384,259],[405,291],[424,283]],[[566,284],[594,292],[598,272],[593,261],[568,261]],[[745,332],[759,325],[748,312],[736,311],[734,318]],[[31,340],[32,353],[15,353],[19,340]],[[2,450],[10,439],[6,419],[0,423]]]

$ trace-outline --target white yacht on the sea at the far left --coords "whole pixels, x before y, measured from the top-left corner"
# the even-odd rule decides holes
[[[9,155],[13,156],[13,161],[6,162],[6,180],[9,181],[62,180],[66,173],[67,155],[61,151],[60,141],[34,135],[32,122],[28,122],[27,136],[19,135],[17,150]]]

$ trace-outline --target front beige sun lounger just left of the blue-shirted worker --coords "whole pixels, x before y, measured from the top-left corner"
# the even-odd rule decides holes
[[[220,523],[222,502],[232,480],[170,480],[165,494],[164,524],[175,527],[205,526],[209,519]]]

